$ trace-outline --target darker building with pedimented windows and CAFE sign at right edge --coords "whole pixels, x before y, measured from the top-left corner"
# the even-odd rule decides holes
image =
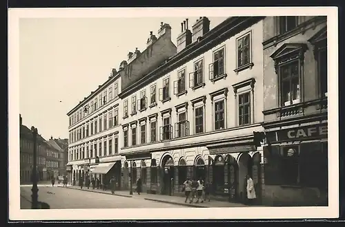
[[[327,18],[264,19],[264,201],[328,199]]]

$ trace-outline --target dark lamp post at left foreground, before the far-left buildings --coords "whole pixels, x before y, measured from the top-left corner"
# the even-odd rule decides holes
[[[34,142],[34,163],[33,163],[33,174],[32,174],[32,205],[31,208],[32,209],[37,209],[38,207],[38,192],[39,192],[39,188],[37,187],[37,129],[35,127],[31,127],[31,131],[32,131],[32,137],[33,137],[33,142]]]

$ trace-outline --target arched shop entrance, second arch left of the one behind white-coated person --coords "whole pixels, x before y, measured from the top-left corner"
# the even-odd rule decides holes
[[[224,193],[224,167],[223,155],[217,155],[213,162],[213,189],[215,193]]]

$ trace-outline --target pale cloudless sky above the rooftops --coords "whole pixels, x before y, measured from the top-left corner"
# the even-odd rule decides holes
[[[135,47],[142,52],[150,31],[172,27],[172,42],[198,17],[19,19],[19,111],[23,125],[43,138],[68,138],[67,113],[119,69]],[[210,29],[226,17],[208,17]]]

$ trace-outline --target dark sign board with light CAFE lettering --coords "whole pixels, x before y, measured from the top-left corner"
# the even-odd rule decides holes
[[[327,123],[308,125],[293,129],[267,132],[266,135],[270,142],[327,138],[328,126]]]

